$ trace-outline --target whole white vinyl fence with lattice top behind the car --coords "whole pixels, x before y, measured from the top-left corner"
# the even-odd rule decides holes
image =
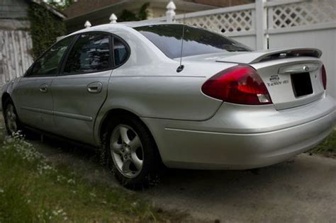
[[[170,5],[172,7],[172,4]],[[173,7],[174,8],[174,7]],[[223,33],[254,50],[315,47],[323,50],[327,91],[336,98],[336,0],[256,0],[228,8],[216,8],[167,18]],[[169,18],[173,15],[174,18]],[[185,17],[185,19],[184,19]]]

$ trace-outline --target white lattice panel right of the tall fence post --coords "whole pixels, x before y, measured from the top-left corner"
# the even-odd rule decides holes
[[[317,23],[336,23],[336,0],[314,0],[269,8],[269,28],[289,28]]]

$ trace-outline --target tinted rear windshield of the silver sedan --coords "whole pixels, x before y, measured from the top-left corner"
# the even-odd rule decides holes
[[[181,55],[183,25],[146,25],[135,28],[153,42],[167,57]],[[183,57],[203,55],[214,52],[251,51],[249,47],[223,35],[211,33],[201,28],[184,26]]]

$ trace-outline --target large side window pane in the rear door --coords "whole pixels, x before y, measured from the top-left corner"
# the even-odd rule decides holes
[[[99,72],[110,67],[110,36],[104,33],[85,33],[79,35],[69,52],[63,74]]]

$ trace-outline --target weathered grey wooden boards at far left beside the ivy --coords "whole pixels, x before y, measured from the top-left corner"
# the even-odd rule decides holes
[[[33,62],[28,1],[0,0],[0,90]]]

